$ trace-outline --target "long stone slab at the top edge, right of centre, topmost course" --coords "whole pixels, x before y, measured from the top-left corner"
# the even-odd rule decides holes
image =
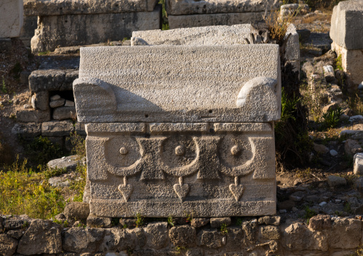
[[[168,15],[274,11],[279,6],[279,0],[166,0]]]

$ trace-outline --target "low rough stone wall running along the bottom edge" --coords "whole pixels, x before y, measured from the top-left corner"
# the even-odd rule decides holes
[[[77,220],[86,216],[66,209],[56,216],[61,225],[26,215],[2,216],[0,255],[344,256],[354,255],[362,245],[362,220],[357,217],[317,215],[309,225],[279,216],[144,219],[136,227],[132,218],[89,215]]]

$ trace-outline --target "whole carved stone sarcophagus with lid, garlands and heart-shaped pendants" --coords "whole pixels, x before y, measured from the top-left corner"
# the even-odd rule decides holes
[[[81,48],[91,213],[273,215],[279,46]]]

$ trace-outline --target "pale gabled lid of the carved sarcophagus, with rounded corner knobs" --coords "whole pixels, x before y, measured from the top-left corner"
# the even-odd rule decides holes
[[[81,48],[77,117],[84,123],[277,121],[279,68],[273,44]]]

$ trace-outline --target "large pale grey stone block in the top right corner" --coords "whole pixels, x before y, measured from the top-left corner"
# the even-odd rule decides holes
[[[348,50],[363,49],[363,1],[341,1],[334,6],[330,38]]]

